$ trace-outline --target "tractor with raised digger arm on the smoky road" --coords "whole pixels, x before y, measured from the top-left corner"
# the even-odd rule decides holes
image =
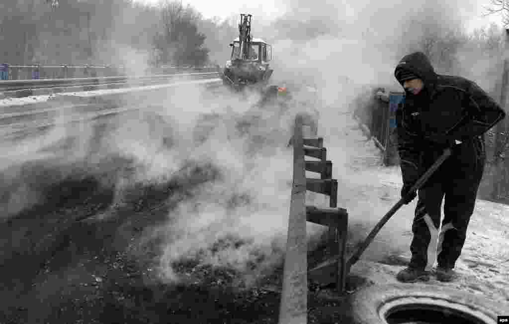
[[[273,70],[269,67],[272,60],[272,46],[263,39],[251,36],[251,14],[240,14],[239,37],[230,43],[231,58],[226,62],[221,78],[223,84],[235,90],[245,87],[267,91]],[[270,87],[275,91],[277,87]]]

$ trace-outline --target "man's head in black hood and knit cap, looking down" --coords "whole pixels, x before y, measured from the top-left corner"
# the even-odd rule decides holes
[[[437,82],[437,74],[423,52],[414,52],[403,57],[394,70],[394,76],[406,90],[420,86],[432,91]]]

